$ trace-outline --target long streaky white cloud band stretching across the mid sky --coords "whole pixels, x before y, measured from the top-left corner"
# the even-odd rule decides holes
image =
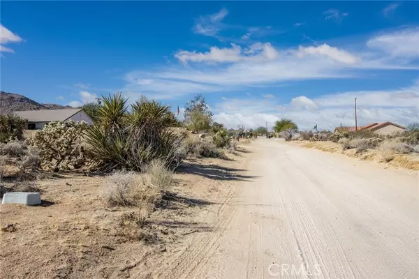
[[[410,39],[397,35],[407,48],[403,57],[376,48],[378,40],[394,36],[395,32],[381,33],[367,43],[355,42],[358,47],[348,45],[351,51],[326,43],[279,49],[260,42],[247,47],[214,46],[207,52],[181,50],[175,56],[183,65],[170,63],[149,72],[127,73],[126,85],[121,90],[132,96],[145,94],[172,99],[191,93],[246,92],[249,86],[284,86],[284,82],[298,80],[355,79],[365,77],[363,71],[367,70],[369,75],[374,74],[372,70],[419,70],[419,61],[413,56],[416,49],[412,46],[414,32],[411,30],[417,29],[399,31]],[[402,52],[398,48],[391,50]]]

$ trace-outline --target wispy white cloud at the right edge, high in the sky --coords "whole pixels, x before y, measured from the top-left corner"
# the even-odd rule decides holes
[[[383,33],[368,40],[367,46],[392,56],[419,57],[419,27]]]

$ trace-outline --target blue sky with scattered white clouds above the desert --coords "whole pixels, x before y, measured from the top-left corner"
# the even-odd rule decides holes
[[[419,2],[1,2],[1,90],[81,105],[121,91],[228,128],[419,121]]]

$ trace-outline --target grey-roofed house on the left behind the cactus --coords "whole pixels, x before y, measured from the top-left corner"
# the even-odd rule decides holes
[[[15,115],[27,119],[28,130],[43,129],[51,121],[85,121],[93,124],[90,116],[83,109],[62,109],[62,110],[24,110],[14,112]]]

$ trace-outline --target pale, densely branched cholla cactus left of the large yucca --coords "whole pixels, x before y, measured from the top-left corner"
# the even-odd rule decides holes
[[[43,130],[37,130],[27,142],[38,149],[43,163],[57,172],[79,155],[80,142],[77,142],[86,128],[84,121],[52,121]]]

